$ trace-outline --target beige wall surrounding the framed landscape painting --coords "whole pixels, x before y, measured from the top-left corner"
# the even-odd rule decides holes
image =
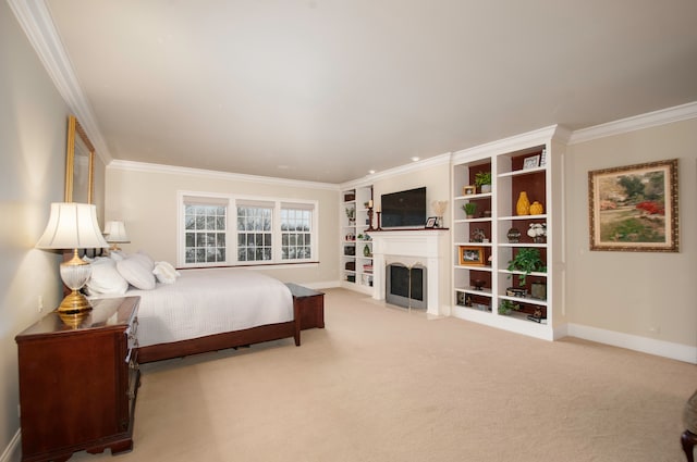
[[[589,251],[588,172],[673,158],[678,159],[680,253]],[[570,322],[583,326],[576,332],[610,330],[694,351],[697,118],[574,143],[565,179],[566,307]]]

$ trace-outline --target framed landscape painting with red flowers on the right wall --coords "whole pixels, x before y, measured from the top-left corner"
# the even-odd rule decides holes
[[[677,252],[677,159],[588,172],[590,250]]]

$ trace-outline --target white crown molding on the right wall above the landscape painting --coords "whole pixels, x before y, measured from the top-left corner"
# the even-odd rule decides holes
[[[697,117],[697,101],[673,108],[661,109],[659,111],[647,112],[646,114],[621,118],[607,124],[596,125],[588,128],[575,130],[570,145],[591,141],[608,136],[622,135],[659,125],[672,124],[674,122],[687,121]]]

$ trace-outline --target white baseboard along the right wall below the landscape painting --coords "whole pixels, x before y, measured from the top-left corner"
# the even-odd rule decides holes
[[[613,347],[626,348],[628,350],[697,364],[697,347],[690,347],[688,345],[657,340],[637,335],[622,334],[614,330],[584,326],[580,324],[568,324],[567,334],[572,337],[578,337],[585,340],[597,341],[599,344],[612,345]]]

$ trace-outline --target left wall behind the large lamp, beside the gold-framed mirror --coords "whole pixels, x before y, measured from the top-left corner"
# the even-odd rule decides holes
[[[0,2],[0,460],[19,458],[16,334],[61,300],[60,255],[34,249],[63,200],[68,107]],[[3,451],[15,449],[13,454]]]

